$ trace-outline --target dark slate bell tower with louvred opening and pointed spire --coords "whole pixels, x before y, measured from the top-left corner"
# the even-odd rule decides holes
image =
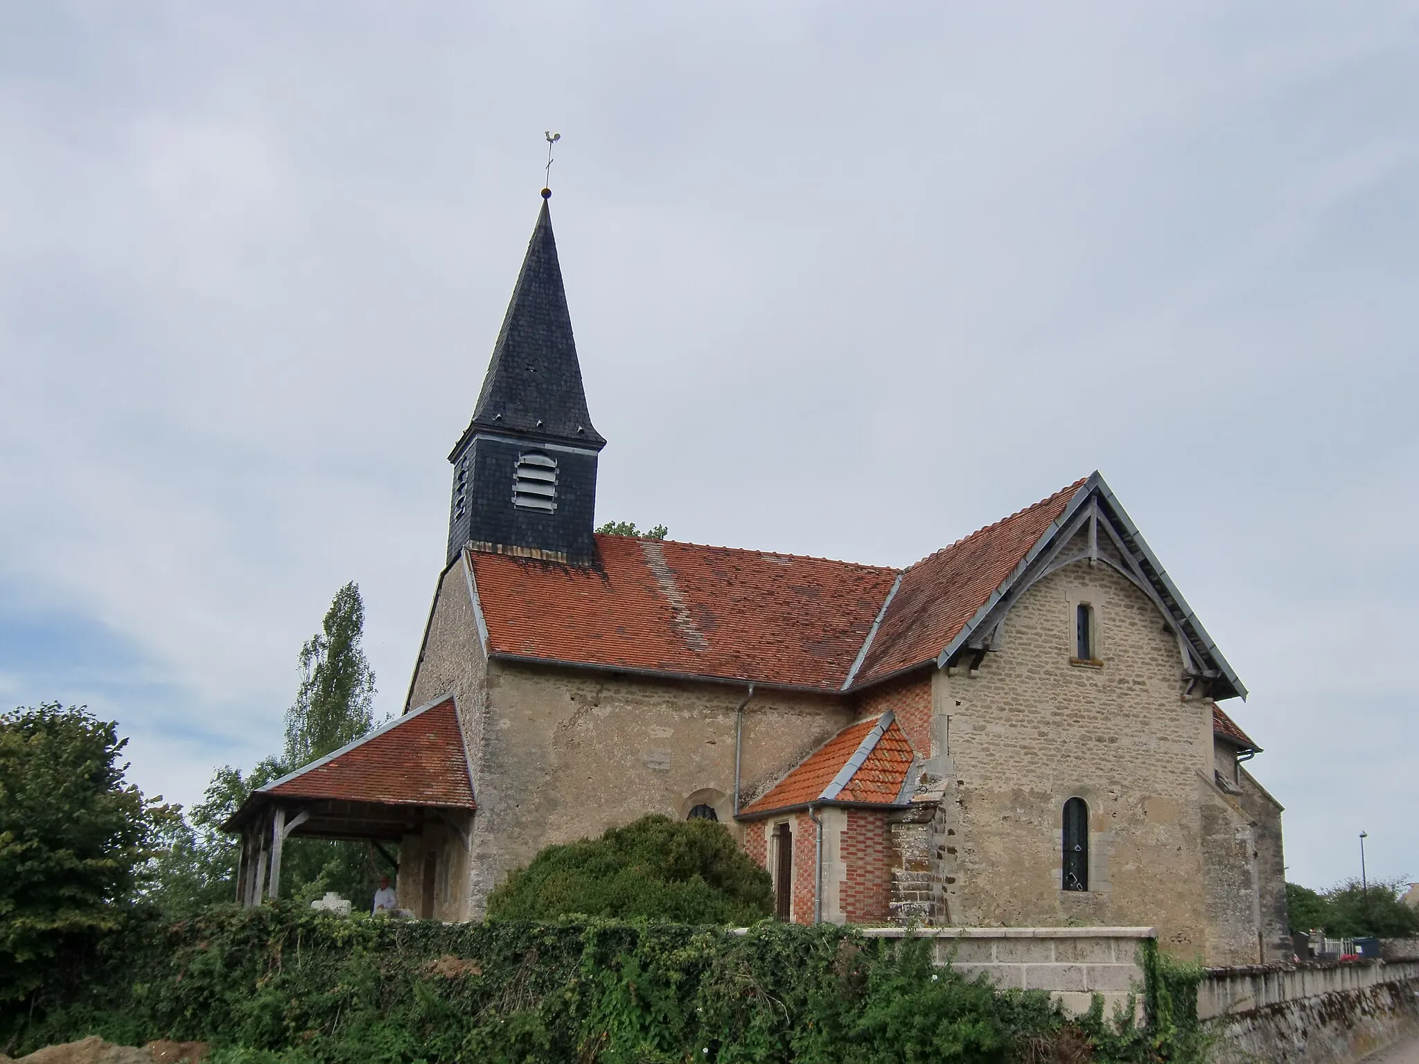
[[[524,558],[595,565],[596,461],[551,190],[528,243],[473,420],[448,454],[448,562],[464,545]]]

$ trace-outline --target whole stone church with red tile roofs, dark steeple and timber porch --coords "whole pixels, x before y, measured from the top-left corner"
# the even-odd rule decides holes
[[[251,796],[240,897],[295,834],[399,843],[467,921],[545,846],[725,824],[795,922],[1156,926],[1290,958],[1246,688],[1093,472],[905,569],[597,535],[543,203],[473,419],[404,714]]]

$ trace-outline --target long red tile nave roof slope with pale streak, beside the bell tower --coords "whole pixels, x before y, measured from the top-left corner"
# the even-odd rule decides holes
[[[897,570],[597,536],[603,570],[470,552],[488,650],[836,691]]]

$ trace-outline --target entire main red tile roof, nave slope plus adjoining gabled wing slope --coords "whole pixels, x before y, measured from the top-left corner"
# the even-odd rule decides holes
[[[905,572],[629,536],[596,538],[600,570],[467,556],[492,655],[856,689],[935,658],[1084,482]]]

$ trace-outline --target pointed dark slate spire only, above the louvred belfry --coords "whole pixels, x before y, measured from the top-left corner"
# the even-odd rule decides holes
[[[600,450],[606,440],[586,410],[548,206],[543,193],[470,427]]]

